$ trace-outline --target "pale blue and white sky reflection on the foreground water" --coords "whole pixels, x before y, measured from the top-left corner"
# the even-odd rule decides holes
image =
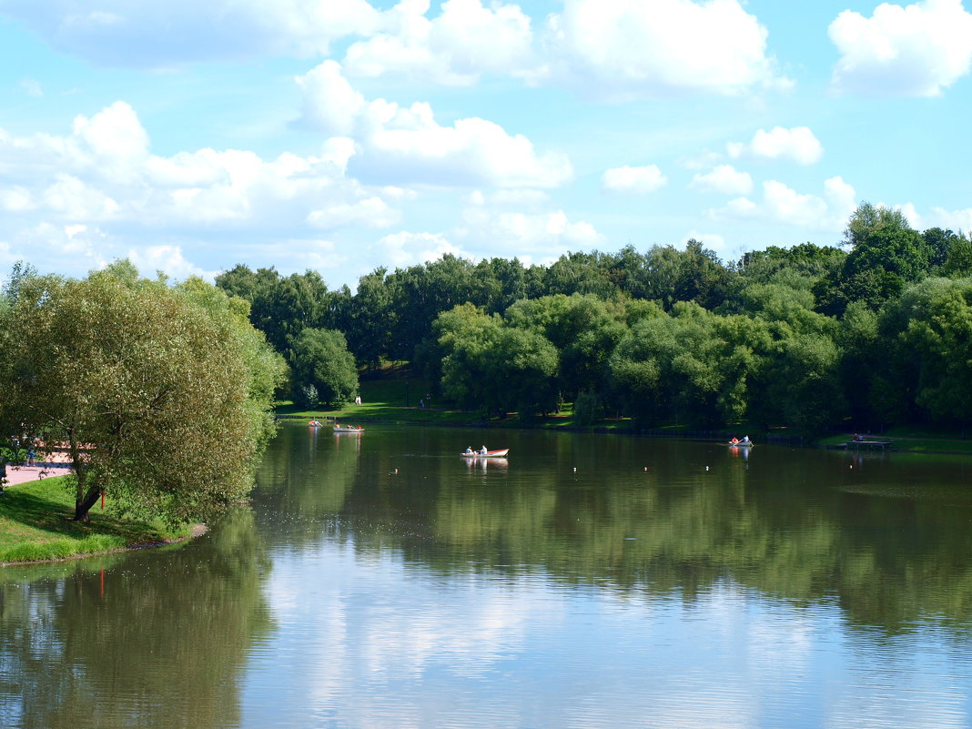
[[[851,630],[719,582],[690,602],[542,573],[444,579],[326,542],[278,554],[278,631],[244,727],[964,727],[972,679],[933,629]],[[944,635],[944,634],[941,634]]]

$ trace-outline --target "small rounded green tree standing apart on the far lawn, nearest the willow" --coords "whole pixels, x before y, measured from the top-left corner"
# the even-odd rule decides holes
[[[340,331],[302,330],[292,351],[295,398],[303,398],[312,406],[316,402],[310,402],[310,398],[316,392],[320,401],[340,407],[357,395],[358,370]]]

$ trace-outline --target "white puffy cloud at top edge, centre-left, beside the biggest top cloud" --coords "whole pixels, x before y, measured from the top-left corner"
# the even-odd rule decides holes
[[[351,76],[410,76],[469,86],[480,74],[515,72],[532,54],[530,17],[516,5],[446,0],[429,18],[428,0],[403,0],[388,13],[388,32],[353,44],[344,56]]]

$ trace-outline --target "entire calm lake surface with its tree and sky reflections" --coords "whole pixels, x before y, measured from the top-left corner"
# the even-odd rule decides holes
[[[286,426],[204,538],[0,570],[0,727],[972,727],[972,460]]]

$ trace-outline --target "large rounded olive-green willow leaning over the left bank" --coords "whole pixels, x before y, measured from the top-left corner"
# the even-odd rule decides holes
[[[281,370],[243,302],[122,261],[83,280],[27,277],[8,304],[0,424],[67,452],[77,520],[102,495],[176,522],[249,491]]]

